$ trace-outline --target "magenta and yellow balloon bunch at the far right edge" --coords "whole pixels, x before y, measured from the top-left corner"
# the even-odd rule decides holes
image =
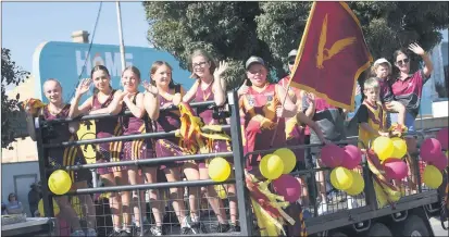
[[[442,184],[441,172],[448,166],[448,128],[440,129],[436,138],[425,139],[420,148],[420,157],[427,163],[423,182],[431,188],[438,188]]]

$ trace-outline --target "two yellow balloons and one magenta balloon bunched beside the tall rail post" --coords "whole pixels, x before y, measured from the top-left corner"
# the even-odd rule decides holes
[[[273,189],[288,202],[296,202],[301,196],[301,184],[289,175],[296,166],[296,155],[288,148],[277,149],[266,154],[260,161],[259,170],[262,176],[273,180]]]

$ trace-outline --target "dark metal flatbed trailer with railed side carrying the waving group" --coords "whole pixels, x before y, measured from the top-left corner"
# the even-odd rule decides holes
[[[230,116],[230,124],[236,124],[233,126],[224,125],[224,129],[230,129],[232,141],[233,141],[233,152],[221,152],[215,154],[195,154],[186,157],[172,157],[172,158],[152,158],[146,160],[137,161],[124,161],[124,162],[111,162],[111,163],[93,163],[86,165],[66,166],[63,170],[80,170],[80,169],[98,169],[103,166],[119,166],[119,165],[141,165],[141,164],[158,164],[159,162],[170,161],[180,161],[180,160],[203,160],[214,157],[223,158],[234,158],[234,172],[233,178],[227,179],[223,183],[213,182],[211,179],[207,180],[196,180],[196,182],[173,182],[173,183],[157,183],[157,184],[144,184],[135,186],[115,186],[115,187],[97,187],[84,188],[71,191],[67,195],[85,195],[85,194],[100,194],[110,191],[123,191],[123,190],[147,190],[147,189],[164,189],[170,187],[192,187],[192,186],[207,186],[207,185],[217,185],[217,184],[236,184],[236,197],[238,200],[238,213],[239,213],[239,224],[241,227],[240,233],[232,233],[232,235],[240,236],[253,236],[258,235],[259,232],[254,229],[254,216],[249,201],[248,189],[245,187],[245,155],[242,151],[242,137],[240,128],[240,117],[237,103],[237,93],[229,92],[227,95],[228,104],[227,109],[229,111],[228,116]],[[209,107],[214,108],[212,102],[201,102],[190,104],[195,107]],[[170,110],[170,109],[167,109]],[[101,120],[109,117],[110,115],[88,115],[84,116],[82,121]],[[121,116],[129,116],[129,113],[121,114]],[[112,138],[101,138],[101,139],[90,139],[90,140],[78,140],[78,141],[67,141],[62,144],[46,144],[46,136],[51,134],[52,123],[67,123],[73,122],[73,120],[55,120],[51,123],[43,121],[41,117],[36,117],[35,128],[37,135],[37,146],[39,154],[39,167],[42,180],[47,180],[52,170],[50,169],[47,159],[48,149],[57,147],[68,147],[68,146],[84,146],[93,145],[100,142],[111,142],[116,140],[133,140],[133,139],[149,139],[158,137],[170,137],[174,136],[175,133],[152,133],[152,134],[141,134],[141,135],[128,135],[128,136],[117,136]],[[429,129],[428,133],[433,133],[436,129]],[[424,133],[424,132],[423,132]],[[353,140],[357,144],[357,139]],[[348,141],[345,141],[348,144]],[[303,146],[307,147],[307,146]],[[265,151],[260,151],[261,153]],[[433,236],[433,230],[428,222],[428,214],[435,213],[440,210],[441,202],[441,190],[432,190],[423,187],[422,182],[419,182],[419,187],[416,194],[410,194],[402,197],[397,203],[384,207],[382,209],[377,208],[374,188],[372,185],[372,174],[366,165],[365,159],[362,162],[363,178],[365,182],[365,188],[363,191],[363,198],[361,202],[362,207],[354,209],[345,209],[344,207],[337,208],[334,213],[328,213],[325,215],[320,215],[307,219],[305,226],[308,235],[313,236]],[[419,162],[415,162],[416,166],[413,167],[419,171]],[[307,171],[300,171],[299,175],[311,175],[314,177],[314,173],[317,169],[309,169]],[[448,172],[448,171],[446,171]],[[447,179],[447,175],[446,175]],[[417,180],[421,180],[420,175],[417,175]],[[43,184],[47,184],[43,182]],[[43,207],[45,215],[47,217],[53,217],[53,207],[51,197],[52,194],[48,190],[47,185],[43,186]],[[140,198],[140,197],[139,197]],[[316,205],[316,204],[315,204]],[[338,204],[337,204],[338,205]],[[314,207],[316,210],[316,207]],[[299,214],[299,213],[298,213]],[[141,220],[141,219],[140,219]],[[215,220],[211,220],[215,222]],[[178,233],[169,233],[169,235],[178,235]],[[205,234],[207,236],[221,236],[222,234]],[[227,236],[229,234],[226,234]]]

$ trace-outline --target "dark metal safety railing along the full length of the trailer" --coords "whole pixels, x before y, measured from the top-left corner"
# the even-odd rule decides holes
[[[239,108],[238,108],[238,97],[235,91],[228,92],[227,93],[227,99],[228,99],[228,109],[230,111],[230,124],[237,124],[237,126],[232,126],[232,125],[222,125],[223,130],[230,130],[230,136],[232,136],[232,150],[229,152],[217,152],[217,153],[207,153],[207,154],[188,154],[188,155],[183,155],[183,157],[165,157],[165,158],[151,158],[151,159],[141,159],[141,160],[133,160],[133,161],[119,161],[119,162],[108,162],[108,163],[92,163],[92,164],[79,164],[79,165],[71,165],[71,166],[62,166],[59,167],[58,170],[66,170],[66,171],[78,171],[78,170],[95,170],[95,169],[100,169],[100,167],[112,167],[112,166],[124,166],[124,165],[144,165],[144,164],[159,164],[159,163],[166,163],[166,162],[176,162],[176,161],[188,161],[188,160],[205,160],[205,159],[211,159],[215,157],[222,157],[222,158],[234,158],[234,178],[228,178],[225,182],[213,182],[211,179],[202,179],[202,180],[184,180],[184,182],[170,182],[170,183],[155,183],[155,184],[139,184],[139,185],[121,185],[121,186],[115,186],[115,187],[96,187],[93,185],[93,188],[82,188],[73,191],[68,191],[64,196],[75,196],[75,195],[87,195],[87,194],[100,194],[100,192],[111,192],[111,191],[128,191],[128,190],[146,190],[146,189],[165,189],[165,188],[172,188],[172,187],[198,187],[198,186],[209,186],[209,185],[222,185],[222,184],[235,184],[236,185],[236,197],[238,200],[238,213],[239,213],[239,224],[240,224],[240,233],[239,235],[241,236],[252,236],[253,235],[253,215],[252,215],[252,210],[249,209],[250,202],[249,202],[249,195],[248,191],[245,187],[246,180],[245,180],[245,163],[248,159],[249,155],[252,154],[261,154],[261,153],[270,153],[278,148],[273,148],[273,149],[266,149],[266,150],[260,150],[260,151],[253,151],[253,152],[248,152],[247,154],[244,155],[244,149],[242,149],[242,138],[241,138],[241,128],[238,126],[240,124],[240,117],[239,117]],[[191,103],[191,108],[203,108],[208,107],[209,109],[214,108],[213,102],[200,102],[200,103]],[[175,108],[166,108],[162,109],[163,110],[174,110]],[[63,147],[72,147],[72,146],[82,146],[82,145],[93,145],[93,144],[103,144],[103,142],[112,142],[112,141],[127,141],[127,140],[135,140],[135,139],[154,139],[154,138],[167,138],[167,137],[173,137],[175,136],[175,132],[169,132],[169,133],[147,133],[147,134],[138,134],[138,135],[127,135],[127,136],[116,136],[116,137],[109,137],[109,138],[98,138],[98,139],[85,139],[85,140],[76,140],[76,141],[64,141],[60,144],[46,144],[45,139],[45,133],[46,129],[49,129],[52,124],[57,123],[71,123],[71,122],[79,122],[79,121],[89,121],[89,120],[102,120],[111,116],[130,116],[130,112],[125,112],[119,115],[109,115],[109,114],[96,114],[96,115],[85,115],[82,117],[76,117],[76,118],[66,118],[66,120],[54,120],[54,121],[43,121],[41,117],[36,117],[35,120],[35,128],[36,128],[36,137],[37,137],[37,147],[38,147],[38,155],[39,155],[39,170],[40,170],[40,178],[41,180],[48,180],[49,175],[51,172],[53,172],[57,169],[49,167],[48,159],[47,158],[47,152],[49,149],[53,148],[63,148]],[[433,133],[437,132],[440,128],[428,128],[428,129],[422,129],[416,132],[417,136],[421,136],[422,138],[425,137],[425,134],[427,133]],[[337,141],[335,142],[336,145],[358,145],[360,141],[358,140],[358,137],[351,137],[346,140]],[[312,145],[300,145],[300,146],[288,146],[289,149],[291,150],[297,150],[297,149],[310,149],[310,148],[319,148],[322,147],[322,144],[312,144]],[[313,211],[314,211],[314,216],[317,217],[317,203],[314,202],[316,200],[313,200],[317,198],[317,182],[324,182],[326,180],[315,180],[315,174],[321,171],[328,171],[330,170],[329,167],[314,167],[313,165],[310,164],[308,161],[308,157],[304,158],[305,161],[305,169],[296,171],[290,173],[294,176],[309,176],[309,180],[312,182],[307,182],[310,183],[309,185],[312,186],[312,192],[309,191],[309,197],[310,201],[313,202]],[[423,192],[422,189],[422,182],[421,182],[421,176],[420,176],[420,167],[419,167],[419,162],[416,160],[415,162],[416,165],[414,165],[414,173],[417,175],[417,195]],[[372,185],[372,173],[367,167],[367,162],[366,158],[363,155],[362,157],[362,162],[361,162],[361,171],[363,179],[365,182],[365,187],[364,190],[362,191],[361,195],[358,196],[358,199],[361,199],[360,197],[364,198],[362,200],[362,203],[364,203],[364,207],[367,207],[369,210],[377,210],[377,202],[376,202],[376,197],[375,197],[375,191],[374,187]],[[92,177],[93,178],[93,177]],[[96,183],[96,182],[93,182]],[[48,188],[48,183],[43,182],[42,183],[42,196],[43,196],[43,209],[45,209],[45,216],[47,217],[52,217],[53,216],[53,202],[52,202],[52,197],[57,196],[50,192]],[[140,196],[138,196],[138,202],[140,204]],[[341,207],[338,207],[337,204],[337,211],[340,211]],[[142,213],[141,213],[142,215]],[[324,217],[324,216],[323,216]],[[141,216],[140,216],[140,220]],[[312,234],[312,233],[311,233]],[[217,235],[217,234],[213,234]]]

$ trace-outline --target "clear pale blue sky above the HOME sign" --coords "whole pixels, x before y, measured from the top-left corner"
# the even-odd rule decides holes
[[[100,2],[2,2],[1,45],[24,70],[33,71],[33,53],[45,41],[72,41],[72,33],[92,32]],[[141,2],[121,2],[126,46],[150,47]],[[119,45],[115,2],[103,2],[93,43]]]

